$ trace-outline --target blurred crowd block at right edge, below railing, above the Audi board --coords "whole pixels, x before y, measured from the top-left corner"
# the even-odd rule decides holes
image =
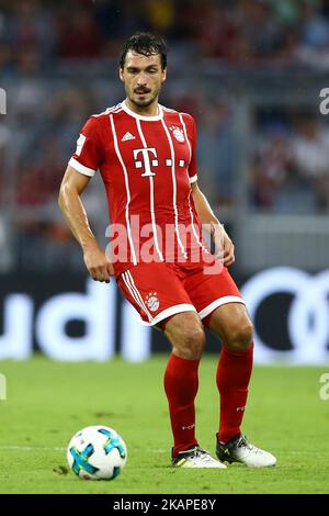
[[[256,115],[250,201],[274,213],[329,211],[329,125],[314,110]]]

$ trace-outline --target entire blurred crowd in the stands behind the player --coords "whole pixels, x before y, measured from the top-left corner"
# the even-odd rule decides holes
[[[0,0],[0,87],[1,78],[11,83],[10,112],[0,116],[0,215],[8,206],[39,210],[35,218],[16,222],[25,267],[34,267],[39,253],[49,268],[54,260],[81,266],[80,254],[67,253],[73,245],[56,204],[59,183],[84,121],[123,99],[122,85],[102,64],[117,59],[125,37],[141,29],[169,40],[169,64],[181,79],[179,86],[168,81],[161,103],[195,116],[200,183],[219,214],[236,212],[241,166],[249,210],[329,211],[326,116],[309,106],[256,103],[241,136],[230,92],[215,94],[204,76],[191,89],[182,67],[193,55],[193,63],[224,70],[326,72],[329,0]],[[94,63],[104,74],[79,80],[79,66],[92,69]],[[71,75],[53,74],[63,66]],[[248,142],[242,165],[241,137]],[[86,202],[103,235],[100,192],[93,180]]]

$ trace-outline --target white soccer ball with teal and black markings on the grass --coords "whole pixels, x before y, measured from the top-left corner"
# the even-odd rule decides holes
[[[87,426],[71,438],[67,460],[80,479],[113,480],[127,461],[127,448],[113,428]]]

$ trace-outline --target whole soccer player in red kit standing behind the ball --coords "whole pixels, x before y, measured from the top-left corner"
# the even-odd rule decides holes
[[[163,332],[172,346],[164,372],[172,464],[274,465],[271,453],[241,434],[252,369],[252,325],[227,270],[235,260],[234,244],[197,186],[195,122],[158,103],[167,76],[164,40],[149,33],[133,35],[123,48],[118,72],[126,99],[92,115],[81,130],[63,179],[59,206],[91,277],[109,282],[115,276],[141,319]],[[102,176],[114,228],[110,255],[100,248],[81,202],[95,173]],[[223,262],[206,249],[203,224],[211,227],[215,243],[223,240]],[[200,447],[195,435],[204,326],[223,341],[216,377],[219,460]]]

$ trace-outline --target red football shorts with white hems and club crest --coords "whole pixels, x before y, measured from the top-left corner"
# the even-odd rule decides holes
[[[245,304],[227,268],[220,269],[208,274],[202,263],[141,262],[116,281],[141,319],[154,326],[181,312],[197,312],[205,319],[223,304]]]

